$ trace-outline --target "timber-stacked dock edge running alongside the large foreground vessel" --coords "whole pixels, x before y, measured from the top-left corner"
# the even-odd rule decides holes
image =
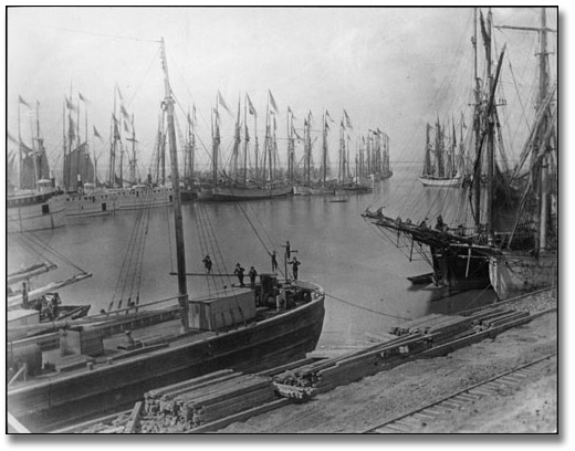
[[[55,433],[203,433],[419,358],[442,356],[553,311],[491,306],[462,315],[427,315],[393,326],[387,340],[335,357],[307,358],[258,374],[231,369],[146,392],[132,410]]]

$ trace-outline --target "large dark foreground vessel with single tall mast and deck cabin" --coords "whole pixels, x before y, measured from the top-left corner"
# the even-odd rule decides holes
[[[11,378],[8,409],[38,431],[117,411],[149,389],[217,369],[260,371],[303,358],[322,332],[325,294],[313,283],[285,280],[280,286],[274,274],[262,274],[255,290],[232,287],[188,298],[175,101],[164,40],[160,55],[178,295],[147,305],[128,302],[75,322],[35,325],[29,332],[41,335],[10,342],[8,367],[25,366],[28,375],[24,380]]]

